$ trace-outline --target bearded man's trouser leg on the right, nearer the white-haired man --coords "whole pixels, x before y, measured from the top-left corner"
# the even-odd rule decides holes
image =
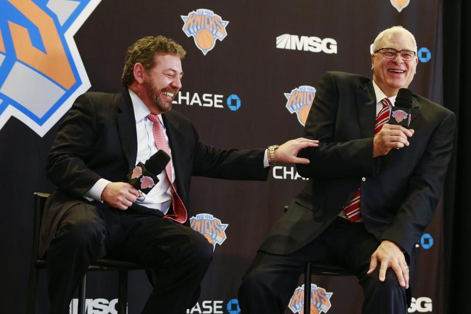
[[[186,313],[198,300],[200,283],[212,260],[213,246],[190,227],[169,219],[129,217],[132,227],[127,228],[129,235],[123,241],[120,255],[153,267],[147,274],[154,289],[142,313]]]

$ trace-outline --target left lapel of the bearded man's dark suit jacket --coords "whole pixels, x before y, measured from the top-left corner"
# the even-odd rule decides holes
[[[135,166],[137,157],[136,119],[128,90],[124,90],[122,95],[118,103],[121,112],[118,113],[117,123],[121,147],[131,170]]]

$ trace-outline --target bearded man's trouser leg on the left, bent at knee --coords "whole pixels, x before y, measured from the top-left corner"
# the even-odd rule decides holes
[[[53,314],[68,314],[72,295],[91,261],[105,256],[105,222],[99,209],[71,207],[63,216],[46,256]]]

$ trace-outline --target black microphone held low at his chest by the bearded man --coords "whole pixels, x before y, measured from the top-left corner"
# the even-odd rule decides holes
[[[145,164],[138,162],[128,173],[128,182],[136,189],[149,193],[158,183],[157,176],[170,161],[170,156],[162,150],[152,155]]]

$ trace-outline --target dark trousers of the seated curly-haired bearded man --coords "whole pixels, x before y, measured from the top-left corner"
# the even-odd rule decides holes
[[[140,206],[71,207],[46,255],[52,313],[69,313],[89,263],[105,256],[152,267],[147,275],[154,289],[143,314],[186,313],[198,300],[213,248],[203,235],[162,216]]]

